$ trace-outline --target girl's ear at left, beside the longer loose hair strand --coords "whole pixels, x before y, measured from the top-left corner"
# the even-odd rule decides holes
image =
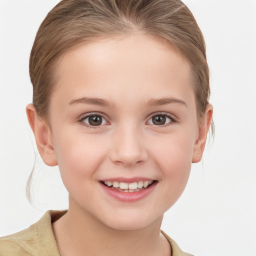
[[[49,126],[37,115],[33,104],[28,104],[26,106],[26,115],[34,133],[36,145],[42,160],[49,166],[57,165],[53,139]]]

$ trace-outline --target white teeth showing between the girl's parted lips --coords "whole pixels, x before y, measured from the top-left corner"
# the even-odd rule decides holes
[[[150,185],[152,185],[157,181],[156,180],[146,180],[146,181],[140,180],[138,182],[127,183],[127,182],[101,180],[100,182],[109,188],[112,188],[114,190],[118,190],[121,192],[137,192],[149,187]]]

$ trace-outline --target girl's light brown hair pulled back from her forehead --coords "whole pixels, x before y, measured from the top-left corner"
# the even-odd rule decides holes
[[[164,38],[185,57],[192,70],[198,118],[203,115],[210,94],[205,43],[180,0],[60,1],[41,23],[31,49],[29,74],[37,114],[47,121],[57,61],[65,52],[98,37],[132,33]]]

